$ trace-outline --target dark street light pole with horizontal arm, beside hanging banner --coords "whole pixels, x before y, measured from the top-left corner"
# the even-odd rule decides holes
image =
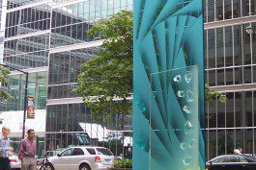
[[[21,72],[26,75],[26,84],[25,84],[25,97],[24,97],[24,112],[23,112],[23,128],[22,128],[22,138],[25,137],[25,124],[26,124],[26,110],[27,110],[27,95],[28,95],[28,72],[22,71],[20,69],[14,68],[13,66],[0,63],[0,65],[3,65],[4,67],[14,69],[18,72]]]

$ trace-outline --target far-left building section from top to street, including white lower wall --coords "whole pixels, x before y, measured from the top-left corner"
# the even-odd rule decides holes
[[[48,1],[2,2],[0,62],[29,73],[28,96],[35,98],[35,119],[27,119],[25,129],[37,131],[38,155],[43,155],[46,120],[46,90],[51,4]],[[29,2],[29,3],[28,3]],[[0,127],[9,125],[14,148],[22,136],[25,75],[12,71],[8,84],[14,100],[0,108]],[[39,122],[40,121],[40,122]]]

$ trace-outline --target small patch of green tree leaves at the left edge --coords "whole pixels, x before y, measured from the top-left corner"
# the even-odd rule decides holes
[[[0,85],[6,84],[10,71],[3,65],[0,65]],[[4,89],[0,87],[0,103],[6,103],[7,99],[13,99],[13,97]]]

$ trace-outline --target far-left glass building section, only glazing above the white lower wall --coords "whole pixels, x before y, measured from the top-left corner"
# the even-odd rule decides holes
[[[36,109],[45,110],[51,6],[47,1],[1,2],[4,48],[0,61],[29,73],[28,95],[36,98]],[[9,91],[14,100],[1,107],[2,111],[23,109],[24,87],[25,75],[13,71]]]

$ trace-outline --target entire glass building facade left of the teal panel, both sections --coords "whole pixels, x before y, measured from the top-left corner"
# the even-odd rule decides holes
[[[3,4],[7,11],[1,59],[31,73],[29,96],[36,98],[36,113],[46,112],[45,149],[92,144],[108,147],[115,155],[124,153],[132,145],[131,115],[96,122],[82,98],[71,91],[77,86],[80,65],[95,58],[102,44],[87,31],[114,13],[132,10],[132,1],[8,0]],[[9,89],[15,100],[1,108],[2,115],[23,109],[24,84],[24,75],[13,71]]]

